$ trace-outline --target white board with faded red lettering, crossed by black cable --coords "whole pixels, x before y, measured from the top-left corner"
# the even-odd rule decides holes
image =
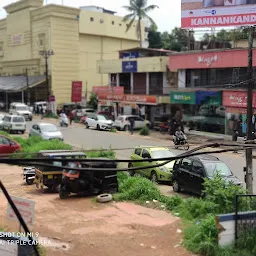
[[[35,218],[35,202],[25,198],[12,196],[15,206],[18,208],[22,218],[27,224],[33,224]],[[7,218],[9,220],[18,220],[10,204],[7,206]]]

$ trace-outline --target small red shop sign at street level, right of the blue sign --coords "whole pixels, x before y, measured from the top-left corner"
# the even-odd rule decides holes
[[[246,91],[223,91],[222,102],[225,107],[246,108],[247,92]],[[253,108],[256,108],[256,93],[252,98]]]

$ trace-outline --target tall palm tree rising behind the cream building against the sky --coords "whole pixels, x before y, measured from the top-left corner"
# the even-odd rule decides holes
[[[159,8],[157,5],[147,5],[148,0],[130,0],[129,6],[123,6],[129,14],[127,14],[123,18],[123,22],[130,21],[127,25],[126,32],[131,28],[135,20],[137,21],[137,36],[140,39],[140,47],[142,47],[142,29],[141,29],[141,21],[143,19],[148,20],[151,25],[156,26],[154,20],[148,16],[149,11],[153,11],[156,8]]]

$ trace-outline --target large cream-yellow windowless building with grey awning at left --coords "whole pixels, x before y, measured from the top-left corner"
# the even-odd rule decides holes
[[[120,50],[139,45],[136,26],[126,32],[122,17],[104,8],[20,0],[4,9],[8,15],[0,20],[2,101],[22,97],[28,101],[24,95],[28,86],[31,102],[47,99],[45,58],[40,51],[54,52],[48,58],[49,92],[57,103],[64,103],[71,101],[72,81],[82,81],[83,95],[92,86],[108,83],[108,75],[97,72],[97,60],[117,59]]]

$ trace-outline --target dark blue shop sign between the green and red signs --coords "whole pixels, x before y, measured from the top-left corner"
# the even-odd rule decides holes
[[[197,91],[196,92],[197,105],[222,105],[222,93],[220,91]]]

